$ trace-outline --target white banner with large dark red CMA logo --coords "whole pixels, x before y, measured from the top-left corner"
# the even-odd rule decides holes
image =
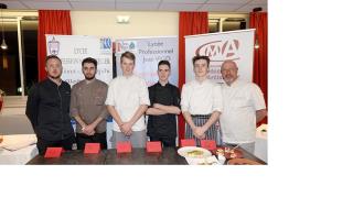
[[[194,79],[192,57],[206,55],[210,57],[208,78],[223,83],[221,65],[231,59],[238,65],[239,78],[253,80],[255,30],[242,30],[223,33],[211,33],[185,36],[185,79]]]

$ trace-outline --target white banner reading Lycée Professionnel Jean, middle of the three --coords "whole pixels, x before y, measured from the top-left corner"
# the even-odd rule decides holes
[[[169,61],[171,64],[171,76],[169,83],[178,86],[179,62],[178,62],[178,37],[139,37],[116,41],[117,75],[121,75],[120,56],[129,51],[136,56],[133,73],[145,78],[148,86],[158,81],[158,63]]]

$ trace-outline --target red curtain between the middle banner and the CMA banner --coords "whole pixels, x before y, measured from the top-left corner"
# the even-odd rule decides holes
[[[207,12],[179,13],[179,88],[185,84],[185,35],[208,33]],[[182,114],[178,118],[179,144],[184,139],[185,121]]]

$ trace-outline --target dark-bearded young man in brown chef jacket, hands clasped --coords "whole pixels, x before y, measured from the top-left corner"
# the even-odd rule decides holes
[[[99,143],[107,149],[108,116],[105,100],[108,85],[96,78],[97,61],[87,57],[82,62],[82,73],[85,79],[75,84],[71,96],[71,116],[76,120],[76,143],[78,150],[85,149],[85,143]]]

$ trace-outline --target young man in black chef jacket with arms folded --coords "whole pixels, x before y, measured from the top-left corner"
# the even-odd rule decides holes
[[[176,114],[180,114],[180,91],[169,84],[170,63],[158,63],[157,84],[148,88],[151,106],[147,110],[147,134],[150,141],[161,141],[163,146],[175,146]]]

